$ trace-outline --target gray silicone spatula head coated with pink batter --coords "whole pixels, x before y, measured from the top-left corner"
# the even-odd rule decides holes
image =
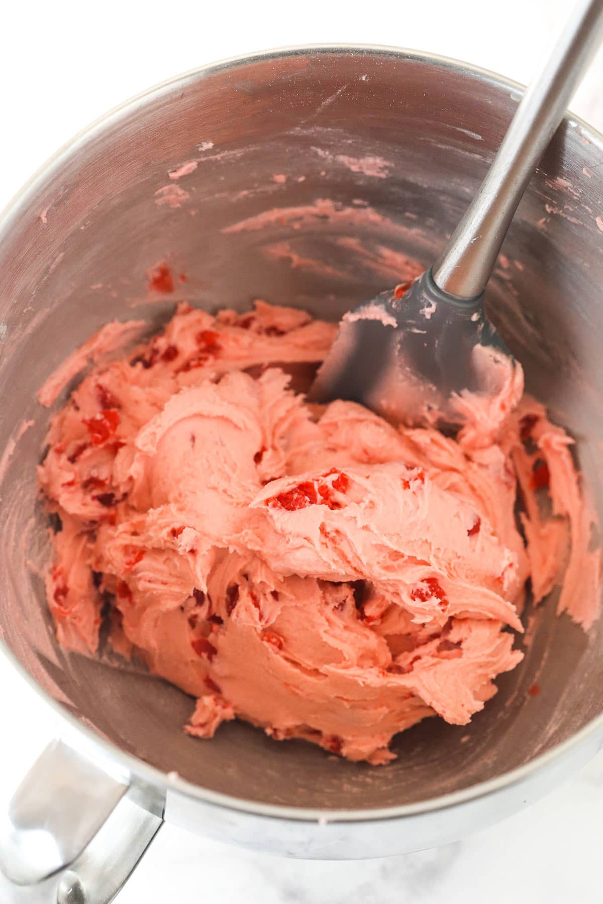
[[[459,397],[495,392],[501,363],[513,356],[483,297],[456,300],[428,270],[344,315],[310,398],[357,401],[394,423],[454,425]]]

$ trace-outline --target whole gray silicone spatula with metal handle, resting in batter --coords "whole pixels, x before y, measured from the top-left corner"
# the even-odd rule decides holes
[[[602,34],[603,0],[581,0],[438,260],[403,294],[382,292],[344,316],[312,400],[354,400],[409,423],[432,410],[454,422],[456,393],[492,391],[484,366],[489,351],[491,358],[513,359],[485,315],[485,287],[517,205]]]

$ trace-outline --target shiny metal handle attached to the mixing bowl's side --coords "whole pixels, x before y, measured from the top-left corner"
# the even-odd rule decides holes
[[[0,815],[0,899],[108,904],[163,824],[158,809],[53,740]]]

